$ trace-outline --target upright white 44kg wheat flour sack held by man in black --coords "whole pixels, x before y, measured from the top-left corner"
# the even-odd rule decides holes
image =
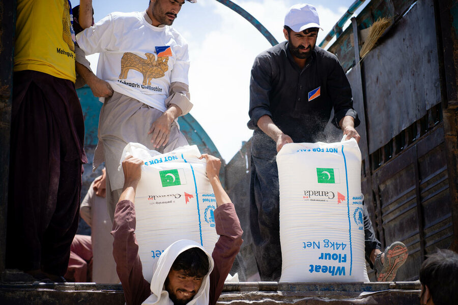
[[[286,144],[277,165],[280,282],[369,282],[356,140]]]

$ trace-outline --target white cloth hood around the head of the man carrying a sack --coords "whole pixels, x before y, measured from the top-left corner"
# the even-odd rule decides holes
[[[189,239],[175,241],[161,254],[157,260],[156,270],[154,271],[153,278],[151,279],[151,292],[153,294],[150,295],[142,304],[173,305],[173,302],[168,297],[168,292],[164,287],[165,279],[167,278],[171,265],[180,253],[191,248],[199,248],[207,254],[209,270],[202,281],[201,288],[199,288],[197,293],[194,295],[192,300],[187,303],[187,305],[208,305],[210,299],[210,273],[213,270],[213,259],[211,255],[205,251],[204,247]]]

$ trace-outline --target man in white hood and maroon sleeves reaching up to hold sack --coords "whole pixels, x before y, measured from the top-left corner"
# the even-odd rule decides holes
[[[135,190],[141,175],[141,160],[128,157],[123,162],[124,188],[116,205],[113,231],[113,256],[124,289],[126,303],[156,305],[214,305],[223,289],[242,245],[242,228],[232,204],[219,181],[221,161],[203,154],[207,176],[217,208],[216,233],[220,235],[212,255],[192,240],[178,240],[164,250],[157,261],[150,283],[142,273],[138,243],[135,239]]]

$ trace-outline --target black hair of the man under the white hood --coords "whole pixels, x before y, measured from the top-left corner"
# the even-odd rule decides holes
[[[189,277],[204,277],[209,268],[208,256],[199,248],[183,251],[171,266],[175,271],[183,270]]]

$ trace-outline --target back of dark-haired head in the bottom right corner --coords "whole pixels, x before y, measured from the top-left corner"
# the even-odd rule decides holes
[[[421,264],[420,283],[430,290],[435,305],[458,304],[458,254],[438,250]]]

